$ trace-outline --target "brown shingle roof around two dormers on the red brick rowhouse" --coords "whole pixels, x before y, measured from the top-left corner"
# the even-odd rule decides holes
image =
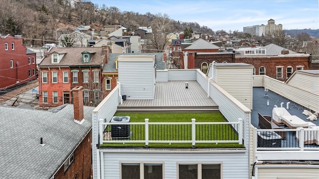
[[[88,51],[91,53],[91,61],[89,63],[82,63],[82,52]],[[39,66],[80,66],[80,65],[101,65],[103,63],[102,47],[69,47],[69,48],[58,48],[52,47],[49,51],[65,54],[58,64],[51,63],[51,55],[44,57]]]

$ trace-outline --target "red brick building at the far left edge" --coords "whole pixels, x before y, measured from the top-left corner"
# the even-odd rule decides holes
[[[0,35],[0,89],[35,80],[35,52],[22,44],[21,35]]]

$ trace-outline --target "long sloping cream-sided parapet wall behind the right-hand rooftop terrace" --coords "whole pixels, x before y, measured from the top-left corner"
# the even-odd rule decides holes
[[[319,111],[319,95],[264,76],[264,87],[313,111]]]

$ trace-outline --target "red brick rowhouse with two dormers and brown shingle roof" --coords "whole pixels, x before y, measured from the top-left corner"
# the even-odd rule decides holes
[[[53,47],[38,65],[39,105],[59,106],[72,102],[71,89],[83,86],[84,104],[101,100],[101,72],[108,47]]]

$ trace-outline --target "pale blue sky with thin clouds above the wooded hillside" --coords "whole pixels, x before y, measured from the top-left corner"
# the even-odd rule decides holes
[[[319,29],[319,0],[91,0],[122,12],[166,13],[212,30],[239,30],[274,19],[283,29]]]

